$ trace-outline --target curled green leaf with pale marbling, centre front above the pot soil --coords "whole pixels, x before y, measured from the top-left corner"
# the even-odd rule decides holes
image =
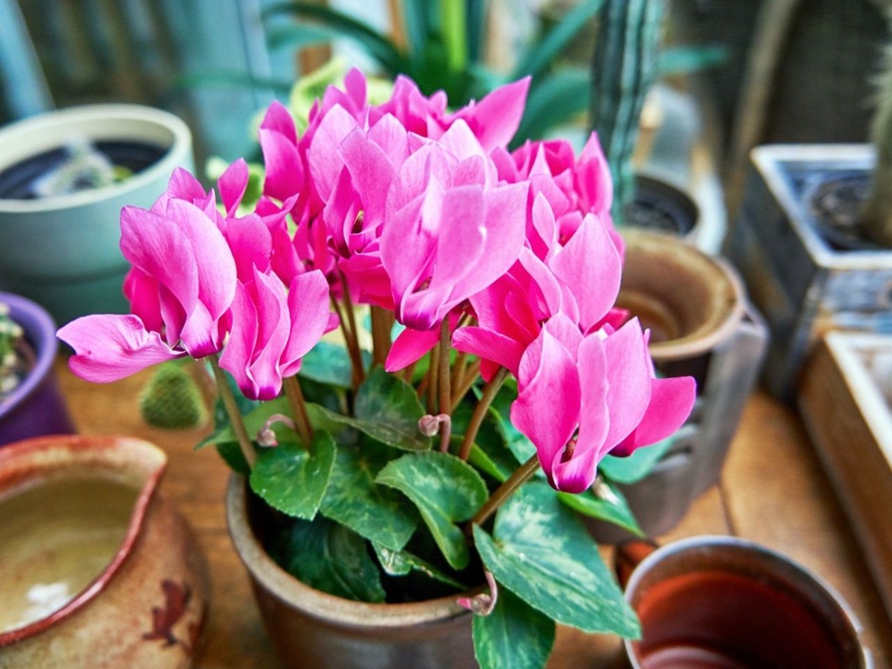
[[[467,566],[470,553],[457,523],[474,516],[487,495],[474,467],[449,453],[409,453],[384,467],[376,482],[396,488],[415,503],[453,569]]]

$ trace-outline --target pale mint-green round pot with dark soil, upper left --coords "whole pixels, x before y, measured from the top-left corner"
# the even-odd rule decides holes
[[[73,140],[103,145],[115,164],[132,165],[134,174],[73,194],[23,194],[32,172],[58,163]],[[3,128],[0,145],[0,289],[37,301],[60,325],[87,313],[126,312],[120,210],[150,207],[173,169],[192,167],[186,124],[150,107],[75,107]]]

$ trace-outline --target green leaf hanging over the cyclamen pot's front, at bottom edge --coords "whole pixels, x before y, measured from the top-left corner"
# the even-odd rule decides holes
[[[474,616],[474,654],[480,669],[542,669],[555,640],[555,622],[500,588],[490,615]]]

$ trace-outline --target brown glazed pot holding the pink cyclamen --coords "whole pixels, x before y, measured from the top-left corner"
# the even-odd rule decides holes
[[[456,597],[368,604],[310,588],[270,558],[255,534],[242,476],[227,490],[229,533],[251,577],[269,636],[294,669],[467,669],[475,666],[471,614]]]

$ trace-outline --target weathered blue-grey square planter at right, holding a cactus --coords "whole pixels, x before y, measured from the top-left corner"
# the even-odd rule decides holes
[[[792,399],[815,343],[834,329],[892,332],[892,250],[846,244],[875,162],[871,145],[760,146],[727,249],[772,331],[765,381]],[[825,225],[822,225],[822,222]],[[851,241],[851,240],[850,240]]]

